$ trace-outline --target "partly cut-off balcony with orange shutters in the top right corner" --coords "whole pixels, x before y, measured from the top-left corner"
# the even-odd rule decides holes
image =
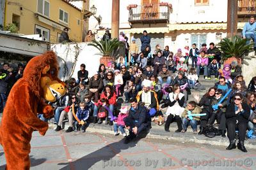
[[[238,0],[237,1],[237,15],[245,16],[246,15],[255,15],[256,14],[256,0]]]

